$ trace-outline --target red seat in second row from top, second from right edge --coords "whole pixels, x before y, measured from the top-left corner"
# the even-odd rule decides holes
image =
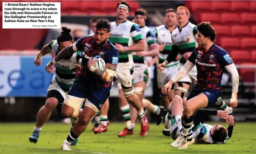
[[[222,24],[237,24],[240,22],[238,13],[222,13],[220,17]]]

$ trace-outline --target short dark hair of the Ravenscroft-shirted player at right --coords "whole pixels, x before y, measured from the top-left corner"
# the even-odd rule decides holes
[[[203,34],[205,37],[210,37],[211,41],[215,41],[216,32],[213,26],[211,25],[210,21],[201,22],[197,24],[197,30]]]

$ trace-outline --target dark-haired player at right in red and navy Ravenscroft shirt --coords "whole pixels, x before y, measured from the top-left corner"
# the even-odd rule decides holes
[[[184,105],[184,126],[179,137],[171,144],[177,148],[188,148],[194,143],[192,134],[194,112],[216,103],[222,93],[223,69],[227,69],[232,79],[232,94],[229,105],[231,107],[237,106],[239,74],[235,64],[226,50],[214,44],[216,33],[210,22],[198,24],[197,29],[199,46],[194,49],[185,65],[162,89],[162,93],[166,94],[173,83],[185,77],[194,65],[197,66],[197,83],[193,86],[193,90]]]

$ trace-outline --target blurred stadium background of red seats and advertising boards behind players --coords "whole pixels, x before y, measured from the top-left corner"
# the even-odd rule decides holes
[[[4,2],[43,2],[43,0],[7,0]],[[45,0],[45,2],[50,1]],[[92,35],[96,19],[103,17],[110,21],[116,19],[118,1],[53,0],[52,2],[61,2],[61,27],[71,28],[74,40],[81,36]],[[230,53],[239,70],[239,106],[235,109],[236,117],[241,121],[256,120],[256,1],[128,0],[128,2],[131,7],[128,20],[133,20],[136,9],[144,8],[147,10],[146,25],[152,30],[164,24],[166,9],[176,9],[181,5],[189,8],[191,23],[199,24],[202,21],[210,21],[217,32],[215,44]],[[0,3],[0,12],[2,13],[2,3]],[[0,26],[2,27],[2,16]],[[38,68],[33,63],[34,56],[44,45],[55,40],[61,32],[61,29],[19,29],[18,26],[17,24],[17,29],[0,29],[2,36],[0,41],[0,83],[2,82],[0,84],[0,121],[35,120],[36,116],[31,118],[31,113],[36,115],[38,109],[44,104],[45,89],[50,84],[51,76],[45,76],[44,63],[37,72]],[[46,58],[48,59],[44,62],[47,64],[52,57]],[[23,69],[35,70],[35,72],[22,71]],[[161,98],[156,83],[155,66],[151,69],[151,84],[145,96],[154,104],[159,104],[162,102],[159,101]],[[32,74],[28,75],[29,73]],[[35,77],[32,77],[33,75]],[[26,85],[30,88],[22,89]],[[42,91],[35,90],[34,93],[27,94],[33,89],[42,87]],[[222,97],[228,101],[231,95],[231,78],[227,72],[222,78],[222,91]],[[119,110],[116,85],[113,86],[110,97],[109,112],[112,114],[111,111]],[[114,106],[112,109],[111,103]],[[17,117],[17,114],[25,114],[31,109],[33,112],[30,115]],[[119,116],[120,118],[116,118],[113,114],[109,117],[122,120],[122,115]]]

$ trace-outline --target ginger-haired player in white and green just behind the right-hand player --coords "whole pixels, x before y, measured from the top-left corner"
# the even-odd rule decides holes
[[[179,69],[186,63],[188,57],[192,51],[197,47],[197,26],[189,22],[190,12],[189,9],[184,6],[177,8],[178,26],[172,32],[172,51],[169,53],[167,59],[159,65],[159,68],[163,71],[169,63],[176,61],[176,56],[181,55]],[[185,96],[191,85],[197,81],[197,68],[194,66],[191,71],[174,86],[175,97],[172,101],[179,101],[185,103]],[[173,88],[173,85],[172,85]],[[171,105],[168,109],[167,121],[171,120]],[[228,113],[232,112],[232,108],[227,106],[222,98],[219,98],[216,105],[221,109],[224,109]],[[167,130],[163,130],[164,135],[169,135],[169,125],[165,125]]]

